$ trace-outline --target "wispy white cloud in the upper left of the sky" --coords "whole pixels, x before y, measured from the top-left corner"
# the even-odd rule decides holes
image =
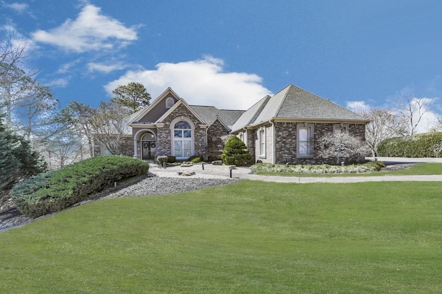
[[[36,43],[48,43],[68,51],[86,52],[124,47],[137,39],[135,27],[126,28],[100,8],[86,4],[77,19],[67,19],[57,28],[32,33]]]

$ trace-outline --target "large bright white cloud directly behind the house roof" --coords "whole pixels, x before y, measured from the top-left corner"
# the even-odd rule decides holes
[[[156,70],[128,71],[105,86],[111,94],[119,85],[142,83],[153,98],[167,87],[191,105],[212,105],[219,109],[248,109],[271,94],[262,78],[244,72],[223,72],[223,61],[212,56],[181,63],[159,63]]]

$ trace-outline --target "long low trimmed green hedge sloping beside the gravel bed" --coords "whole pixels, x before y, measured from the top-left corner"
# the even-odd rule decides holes
[[[21,213],[37,218],[86,200],[114,182],[147,174],[148,168],[147,162],[126,156],[88,158],[32,176],[15,185],[11,196]]]

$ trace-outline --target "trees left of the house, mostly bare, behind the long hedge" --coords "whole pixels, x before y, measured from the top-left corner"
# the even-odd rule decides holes
[[[26,65],[26,40],[13,31],[0,37],[0,198],[15,182],[94,156],[95,145],[121,154],[126,116],[149,104],[140,83],[114,90],[98,107],[71,101],[61,108],[49,87]],[[1,206],[1,202],[0,202]]]

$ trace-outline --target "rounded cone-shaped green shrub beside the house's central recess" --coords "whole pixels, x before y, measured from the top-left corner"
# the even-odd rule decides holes
[[[247,146],[240,138],[231,136],[224,146],[221,158],[224,165],[242,167],[251,160],[251,155],[249,150],[247,150]]]

